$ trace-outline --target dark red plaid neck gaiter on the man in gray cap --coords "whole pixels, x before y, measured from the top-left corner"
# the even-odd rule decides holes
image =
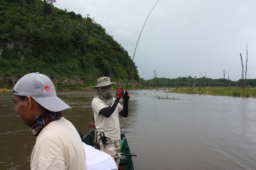
[[[32,133],[34,136],[38,136],[38,134],[41,132],[41,130],[50,122],[61,118],[63,112],[51,112],[46,111],[40,116],[38,116],[29,126],[29,128],[32,130]]]

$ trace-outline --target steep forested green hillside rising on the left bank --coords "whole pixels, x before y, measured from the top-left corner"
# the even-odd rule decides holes
[[[57,82],[127,81],[130,68],[130,80],[139,81],[127,51],[92,18],[42,0],[0,1],[0,81],[30,72]]]

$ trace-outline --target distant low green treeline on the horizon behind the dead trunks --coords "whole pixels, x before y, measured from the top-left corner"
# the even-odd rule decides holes
[[[229,83],[228,83],[229,82]],[[177,87],[177,86],[193,86],[194,84],[194,78],[191,76],[186,77],[179,77],[179,78],[155,78],[150,80],[144,80],[143,78],[140,78],[141,85],[146,85],[147,87],[150,86],[170,86],[170,87]],[[204,86],[204,78],[196,78],[195,86]],[[241,86],[242,80],[239,79],[238,81],[231,81],[228,79],[225,79],[225,85],[226,87],[229,86]],[[224,78],[219,79],[212,79],[212,78],[205,78],[205,86],[224,86]],[[256,79],[247,79],[246,87],[255,87],[256,86]]]

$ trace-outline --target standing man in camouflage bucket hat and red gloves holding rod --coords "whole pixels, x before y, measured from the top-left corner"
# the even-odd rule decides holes
[[[100,150],[113,157],[118,167],[120,162],[120,126],[119,115],[128,116],[128,101],[130,96],[127,91],[117,89],[116,97],[113,98],[109,77],[102,77],[97,80],[96,95],[92,100],[92,109],[95,118],[97,134],[95,140],[100,145]],[[119,104],[123,97],[124,107]]]

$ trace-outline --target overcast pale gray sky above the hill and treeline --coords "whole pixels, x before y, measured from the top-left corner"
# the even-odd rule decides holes
[[[157,0],[56,0],[55,7],[95,19],[133,57]],[[134,55],[140,78],[256,78],[255,0],[159,0]],[[200,73],[199,73],[200,72]]]

